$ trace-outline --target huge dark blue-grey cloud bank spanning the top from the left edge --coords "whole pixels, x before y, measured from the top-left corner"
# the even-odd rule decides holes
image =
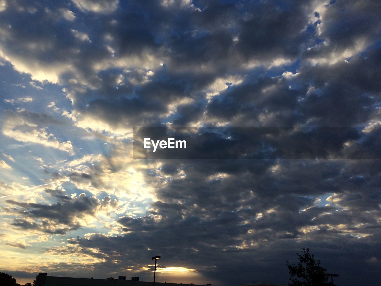
[[[48,10],[56,11],[66,8],[66,6],[64,3],[56,3]],[[136,105],[126,102],[126,104],[133,106],[136,112],[150,112],[149,106],[155,104],[158,106],[156,113],[158,116],[166,111],[163,104],[187,96],[189,92],[203,95],[202,88],[205,87],[205,84],[210,84],[216,77],[225,75],[228,69],[235,67],[236,72],[241,73],[242,64],[247,63],[248,60],[258,60],[258,58],[261,58],[261,61],[264,60],[264,51],[270,62],[280,56],[295,58],[299,50],[295,47],[305,45],[306,42],[304,34],[296,31],[303,31],[308,25],[307,12],[309,13],[311,10],[310,6],[309,3],[303,5],[295,3],[279,7],[280,9],[273,9],[271,8],[274,7],[272,3],[263,6],[250,3],[234,5],[210,2],[201,12],[195,6],[189,5],[168,8],[160,5],[159,2],[150,3],[150,5],[146,2],[129,2],[125,9],[117,10],[112,16],[103,15],[102,22],[93,21],[91,17],[82,18],[80,13],[71,7],[78,16],[77,19],[71,22],[67,22],[65,19],[56,20],[52,26],[49,13],[43,9],[43,3],[39,3],[35,13],[23,14],[24,17],[27,17],[26,21],[35,22],[35,25],[32,26],[33,29],[22,29],[21,26],[14,23],[12,17],[3,18],[4,25],[10,24],[13,27],[11,37],[7,38],[4,48],[13,47],[12,53],[17,53],[18,50],[24,50],[26,42],[29,43],[31,49],[33,49],[34,43],[46,43],[45,48],[33,49],[28,54],[31,53],[32,58],[40,66],[54,63],[64,66],[67,62],[70,63],[73,69],[65,68],[62,71],[64,74],[61,74],[61,80],[68,84],[67,90],[70,90],[70,86],[76,87],[74,82],[68,81],[73,78],[79,79],[91,87],[97,87],[99,95],[94,95],[95,97],[93,96],[85,102],[90,102],[88,112],[92,114],[100,111],[97,102],[105,95],[108,98],[110,96],[115,98],[118,94],[120,94],[118,97],[125,97],[135,93],[138,98],[147,103]],[[10,5],[7,9],[7,15],[21,13],[17,5]],[[180,9],[181,17],[170,16],[175,9]],[[242,11],[246,12],[242,14]],[[36,19],[38,22],[35,21]],[[296,19],[298,21],[295,21]],[[285,21],[287,24],[284,23]],[[219,25],[215,25],[216,23]],[[88,26],[93,27],[93,30],[86,28]],[[91,43],[88,40],[76,38],[76,34],[72,30],[88,35]],[[291,30],[293,33],[288,33]],[[57,34],[59,37],[56,37]],[[112,38],[109,43],[104,39],[105,35],[110,35]],[[240,40],[235,45],[233,39],[237,36]],[[23,40],[21,42],[18,39]],[[264,39],[266,40],[264,41]],[[253,45],[253,42],[256,42],[256,45]],[[286,49],[292,52],[287,51],[286,55],[283,55],[285,49],[280,47],[285,43],[293,43],[295,47]],[[141,92],[125,87],[121,87],[124,92],[115,90],[115,88],[111,90],[110,83],[114,81],[111,75],[115,71],[108,69],[101,73],[94,73],[92,68],[94,64],[102,60],[115,59],[107,50],[107,44],[114,49],[118,58],[123,56],[141,57],[144,51],[148,51],[157,58],[167,59],[168,62],[165,64],[168,72],[155,74],[152,82],[143,87]],[[255,47],[259,48],[258,54],[253,51]],[[15,56],[24,56],[24,54],[19,53]],[[203,71],[203,68],[200,69],[200,67],[205,64],[207,68]],[[65,72],[65,70],[67,71]],[[189,74],[191,71],[192,74]],[[184,90],[189,87],[189,90]],[[83,101],[81,93],[77,91],[76,104]],[[148,98],[149,100],[147,100]],[[123,106],[123,103],[111,103],[107,100],[103,103],[101,106],[104,106],[104,112],[97,115],[105,121],[118,122],[123,116],[131,121],[134,117],[126,109],[117,109],[118,106]],[[115,109],[115,118],[109,118],[106,115],[109,113],[107,106],[110,104]],[[78,107],[80,106],[81,104],[78,105]],[[200,106],[197,109],[200,110]],[[185,114],[181,117],[185,118]],[[144,122],[140,122],[144,124]],[[152,121],[148,121],[148,123],[150,122]],[[181,122],[185,124],[187,121],[179,121],[178,124]]]

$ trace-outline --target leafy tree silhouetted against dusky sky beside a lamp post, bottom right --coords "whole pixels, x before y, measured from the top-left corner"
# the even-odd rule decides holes
[[[328,276],[325,276],[326,268],[320,266],[320,260],[315,261],[314,254],[309,253],[309,249],[302,248],[303,254],[298,255],[298,265],[291,265],[287,261],[287,268],[290,272],[289,286],[323,286],[333,285],[328,283]],[[334,285],[333,285],[334,286]]]

